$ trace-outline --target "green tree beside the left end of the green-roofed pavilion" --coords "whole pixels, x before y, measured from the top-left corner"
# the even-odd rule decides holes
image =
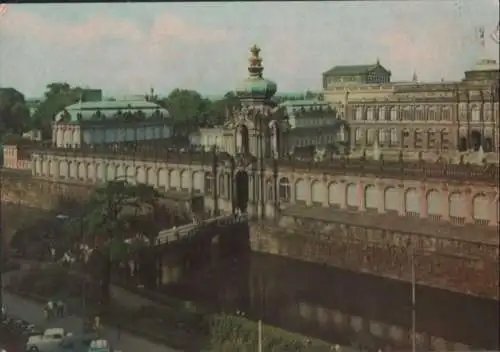
[[[42,131],[44,138],[52,134],[52,121],[57,113],[69,105],[78,102],[82,88],[71,87],[68,83],[50,83],[45,91],[45,99],[38,106],[33,116],[33,124]]]

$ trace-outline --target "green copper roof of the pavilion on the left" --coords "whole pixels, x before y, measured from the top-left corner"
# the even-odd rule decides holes
[[[88,101],[69,105],[65,109],[69,114],[68,122],[78,122],[78,114],[82,114],[82,120],[90,120],[96,111],[100,111],[106,117],[112,117],[119,111],[122,113],[130,111],[132,113],[142,111],[146,118],[152,117],[158,110],[163,116],[168,117],[167,110],[158,104],[149,101]],[[60,111],[55,121],[60,121],[63,117],[64,110]]]

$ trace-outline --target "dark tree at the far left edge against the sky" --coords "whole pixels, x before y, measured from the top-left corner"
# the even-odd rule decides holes
[[[14,88],[0,89],[0,135],[21,134],[29,129],[30,112],[24,95]]]

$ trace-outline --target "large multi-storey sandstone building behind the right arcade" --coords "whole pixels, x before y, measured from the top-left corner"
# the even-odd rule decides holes
[[[349,124],[353,152],[380,148],[405,155],[499,152],[499,65],[481,60],[459,82],[391,82],[373,65],[336,66],[323,74],[325,101]],[[486,155],[488,157],[488,155]]]

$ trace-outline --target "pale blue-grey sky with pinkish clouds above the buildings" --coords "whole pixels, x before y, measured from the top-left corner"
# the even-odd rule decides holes
[[[233,90],[249,48],[281,92],[321,90],[335,65],[374,64],[393,80],[460,79],[498,60],[498,0],[12,4],[0,18],[0,86],[40,97],[51,82],[106,96]],[[483,26],[486,46],[477,28]]]

